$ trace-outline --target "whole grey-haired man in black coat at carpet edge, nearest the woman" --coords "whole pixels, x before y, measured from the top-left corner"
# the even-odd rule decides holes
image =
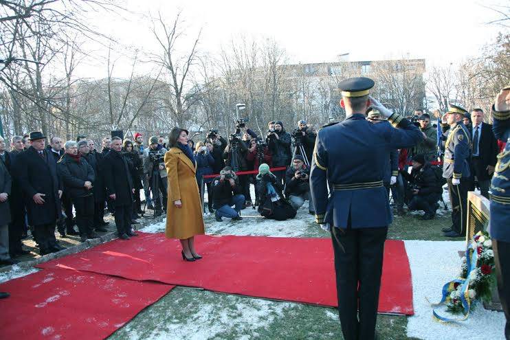
[[[135,190],[128,164],[120,150],[122,150],[122,139],[113,137],[110,151],[104,156],[104,182],[107,187],[107,195],[115,206],[115,225],[119,237],[129,240],[129,236],[137,236],[131,231],[131,207]]]

